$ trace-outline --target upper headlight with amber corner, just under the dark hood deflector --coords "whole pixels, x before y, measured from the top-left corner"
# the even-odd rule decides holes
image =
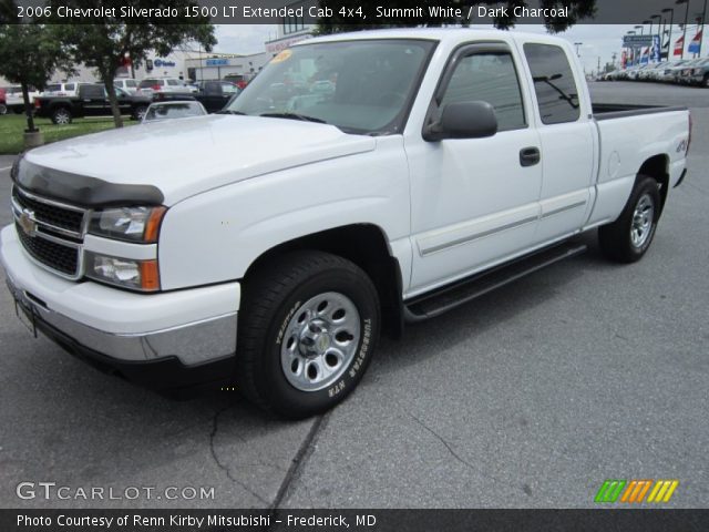
[[[120,241],[157,242],[165,207],[119,207],[96,211],[91,216],[89,233]]]

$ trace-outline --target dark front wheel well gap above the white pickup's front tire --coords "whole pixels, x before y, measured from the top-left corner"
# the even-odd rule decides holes
[[[292,250],[320,250],[347,258],[362,268],[379,293],[382,329],[394,338],[403,332],[402,276],[386,233],[373,224],[353,224],[300,236],[261,253],[244,274],[248,283],[265,263]]]

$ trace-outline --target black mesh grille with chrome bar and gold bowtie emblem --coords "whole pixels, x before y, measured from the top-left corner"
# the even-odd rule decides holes
[[[12,187],[14,226],[22,247],[47,269],[79,279],[89,211]]]

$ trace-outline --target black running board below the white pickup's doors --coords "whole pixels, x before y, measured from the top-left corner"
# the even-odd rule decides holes
[[[580,255],[586,248],[586,244],[571,242],[547,247],[430,294],[414,297],[403,304],[404,319],[415,323],[434,318],[546,266]]]

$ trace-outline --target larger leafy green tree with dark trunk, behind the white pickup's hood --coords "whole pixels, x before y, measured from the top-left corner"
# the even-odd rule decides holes
[[[95,0],[61,0],[56,6],[70,8],[91,9],[96,7]],[[214,25],[206,18],[191,19],[189,24],[179,23],[177,18],[145,17],[136,20],[136,23],[126,23],[117,17],[121,8],[136,10],[151,9],[165,10],[173,8],[177,13],[184,13],[191,6],[198,6],[193,0],[122,0],[119,2],[103,2],[103,6],[115,4],[116,17],[92,18],[91,23],[64,25],[62,41],[69,47],[71,57],[75,63],[83,63],[96,70],[99,78],[109,94],[113,120],[116,127],[123,126],[121,111],[113,88],[115,71],[121,66],[126,57],[130,57],[134,66],[140,66],[147,59],[151,51],[160,55],[169,54],[175,47],[196,41],[210,51],[216,44]],[[130,22],[133,22],[132,20]]]

